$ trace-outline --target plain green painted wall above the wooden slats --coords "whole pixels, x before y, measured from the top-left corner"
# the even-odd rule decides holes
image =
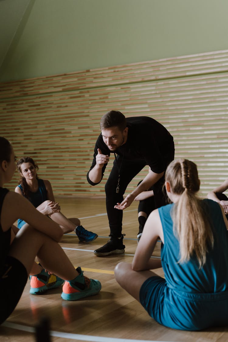
[[[0,81],[228,48],[227,0],[30,3]]]

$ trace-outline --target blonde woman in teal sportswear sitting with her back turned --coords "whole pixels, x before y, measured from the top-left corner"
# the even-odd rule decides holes
[[[228,324],[228,222],[222,206],[199,199],[197,166],[174,160],[165,172],[172,204],[153,210],[132,264],[115,277],[158,323],[181,330]],[[153,227],[153,229],[151,229]],[[158,236],[161,260],[151,259]],[[151,269],[163,267],[165,278]]]

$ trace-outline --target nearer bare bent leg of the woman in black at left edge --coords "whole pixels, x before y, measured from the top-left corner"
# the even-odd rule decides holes
[[[62,279],[71,280],[78,276],[78,272],[60,245],[30,226],[24,225],[17,233],[9,255],[21,261],[28,274],[34,267],[34,260],[37,256],[45,269]]]

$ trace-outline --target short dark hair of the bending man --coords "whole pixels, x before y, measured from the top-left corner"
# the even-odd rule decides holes
[[[119,110],[110,110],[100,120],[100,129],[118,127],[122,132],[126,126],[126,118]]]

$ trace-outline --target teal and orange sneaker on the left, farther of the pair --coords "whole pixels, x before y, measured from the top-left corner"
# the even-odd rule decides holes
[[[43,294],[44,292],[55,289],[64,283],[65,280],[55,274],[48,274],[43,269],[39,274],[30,276],[30,294]]]

